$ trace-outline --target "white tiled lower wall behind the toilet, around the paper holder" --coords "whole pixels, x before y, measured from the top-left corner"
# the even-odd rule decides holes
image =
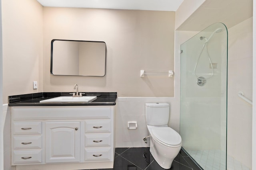
[[[149,147],[142,140],[148,136],[145,119],[145,103],[166,102],[170,104],[168,125],[179,132],[179,100],[170,97],[119,97],[116,105],[116,147]],[[128,121],[137,121],[137,129],[128,129]]]

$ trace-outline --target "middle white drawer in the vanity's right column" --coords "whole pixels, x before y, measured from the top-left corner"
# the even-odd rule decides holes
[[[85,147],[111,146],[111,134],[85,135]]]

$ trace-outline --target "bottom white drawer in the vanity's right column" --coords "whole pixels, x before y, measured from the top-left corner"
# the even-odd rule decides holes
[[[101,149],[85,149],[84,160],[85,161],[96,161],[96,160],[111,160],[111,149],[101,148]]]

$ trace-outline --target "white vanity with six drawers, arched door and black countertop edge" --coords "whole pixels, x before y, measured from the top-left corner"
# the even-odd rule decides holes
[[[16,170],[112,168],[113,96],[84,105],[40,103],[46,97],[10,102],[12,165]]]

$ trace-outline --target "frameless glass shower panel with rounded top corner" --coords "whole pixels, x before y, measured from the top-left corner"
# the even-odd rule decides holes
[[[204,170],[226,170],[228,32],[214,23],[181,45],[182,147]]]

